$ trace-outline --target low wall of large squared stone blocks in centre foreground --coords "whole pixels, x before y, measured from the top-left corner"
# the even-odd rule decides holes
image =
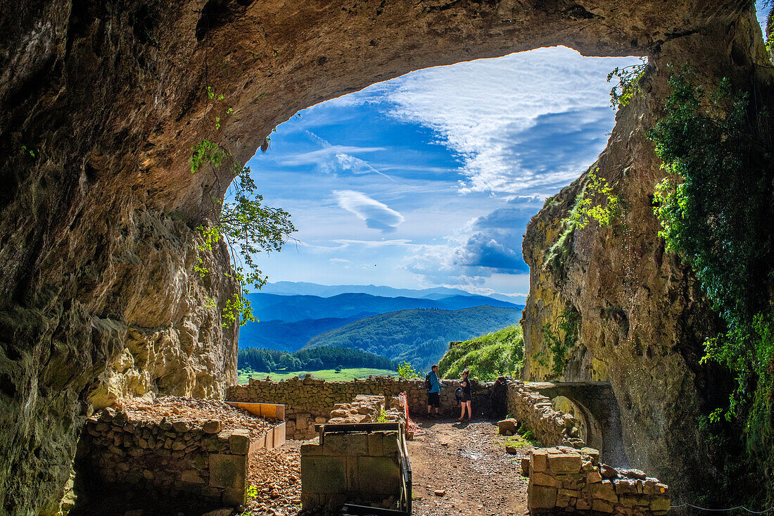
[[[340,508],[344,502],[397,509],[401,501],[399,432],[326,434],[301,445],[303,509]]]

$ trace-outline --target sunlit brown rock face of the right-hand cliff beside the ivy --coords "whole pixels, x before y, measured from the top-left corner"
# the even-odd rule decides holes
[[[663,43],[652,49],[649,63],[643,95],[618,112],[598,159],[597,175],[619,195],[622,217],[608,228],[592,223],[555,246],[564,230],[561,219],[588,181],[585,173],[529,223],[523,243],[530,266],[523,374],[526,380],[551,376],[550,358],[540,360],[541,354],[550,357],[543,325],[565,309],[580,315],[561,379],[609,381],[629,461],[688,497],[717,485],[698,418],[728,402],[730,384],[717,367],[699,364],[717,319],[690,270],[665,252],[658,236],[652,194],[664,172],[645,132],[669,94],[669,64],[690,64],[708,87],[729,77],[744,91],[755,88],[758,98],[774,98],[774,82],[752,12],[731,26]]]

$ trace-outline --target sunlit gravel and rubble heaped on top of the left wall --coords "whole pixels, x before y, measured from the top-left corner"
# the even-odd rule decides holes
[[[155,400],[129,397],[119,400],[115,408],[125,412],[130,421],[186,421],[191,428],[201,428],[207,421],[221,421],[221,430],[243,428],[250,432],[251,439],[276,425],[247,411],[231,407],[224,401],[194,397],[162,396]]]

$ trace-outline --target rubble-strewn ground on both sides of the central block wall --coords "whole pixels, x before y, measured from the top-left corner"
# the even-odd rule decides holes
[[[527,479],[520,474],[519,459],[529,456],[529,445],[518,446],[516,455],[509,455],[506,438],[489,421],[416,422],[425,434],[409,441],[415,516],[527,513]],[[247,514],[298,514],[302,443],[288,441],[279,449],[254,453],[250,483],[257,496],[248,504]]]

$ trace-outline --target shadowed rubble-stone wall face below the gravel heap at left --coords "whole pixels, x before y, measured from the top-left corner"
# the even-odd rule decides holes
[[[87,494],[107,484],[149,499],[233,507],[245,502],[250,449],[248,430],[222,430],[220,421],[130,421],[104,410],[87,420],[77,478]]]

